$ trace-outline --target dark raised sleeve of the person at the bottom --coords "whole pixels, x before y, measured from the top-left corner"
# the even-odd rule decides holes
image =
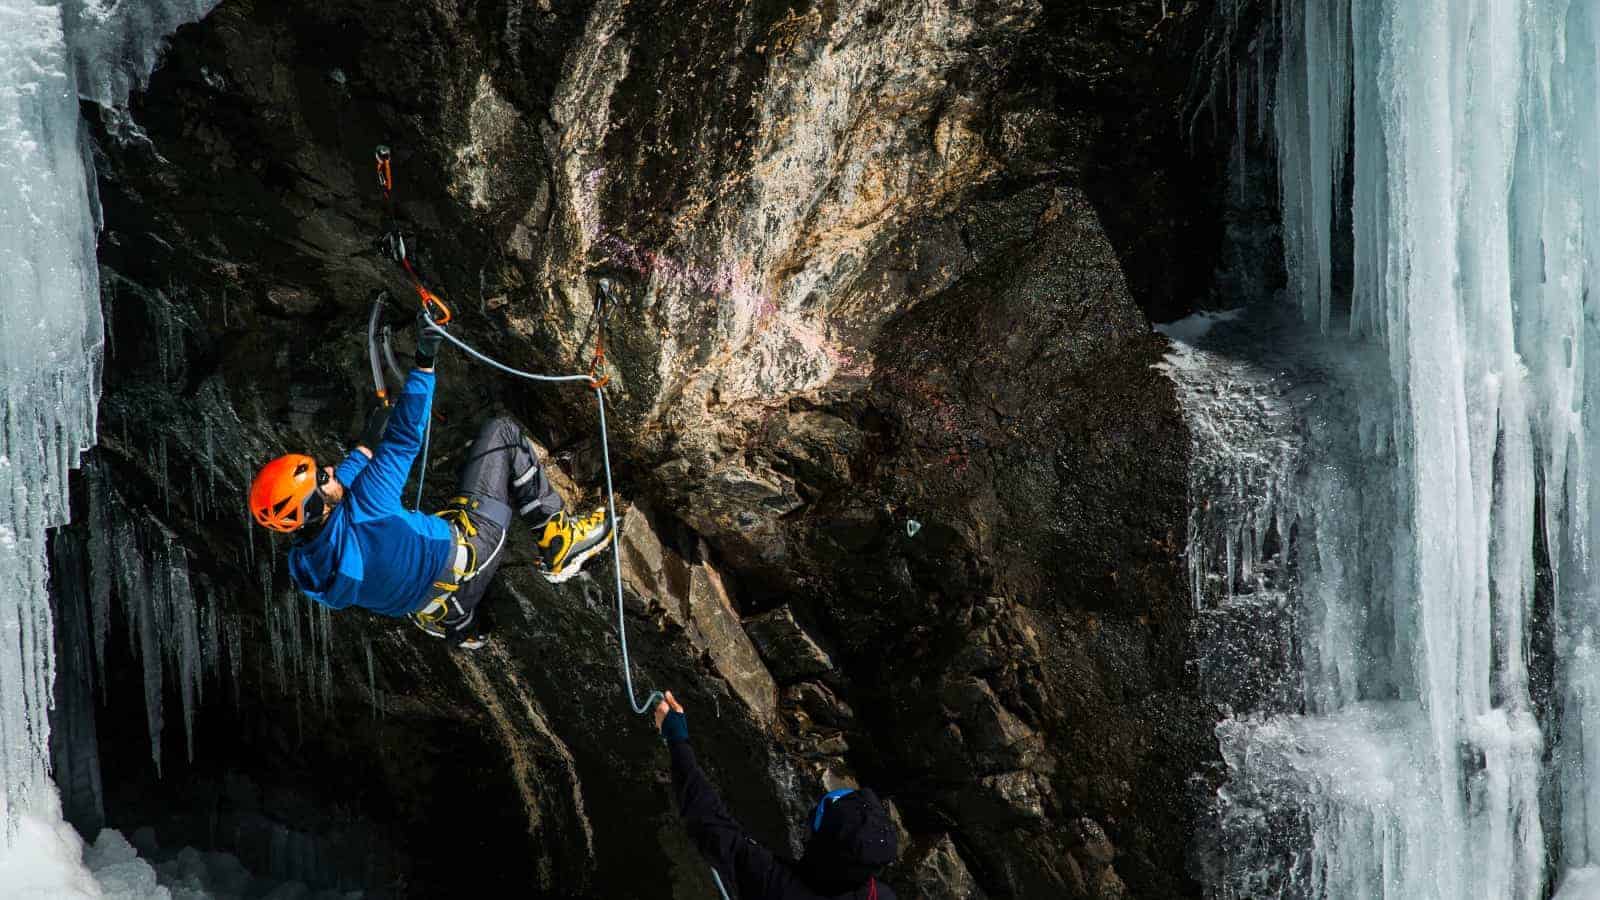
[[[710,786],[690,743],[672,741],[672,788],[678,801],[678,815],[690,839],[723,879],[733,876],[739,897],[760,900],[782,895],[782,866],[773,852],[755,842],[744,826],[722,806],[722,798]]]

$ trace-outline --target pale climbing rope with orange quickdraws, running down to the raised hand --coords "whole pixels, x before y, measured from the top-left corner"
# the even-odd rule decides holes
[[[378,151],[376,151],[376,157],[378,157],[378,184],[379,184],[379,187],[382,187],[382,192],[384,192],[384,211],[386,211],[386,215],[389,218],[389,223],[392,226],[394,224],[394,208],[392,208],[394,167],[392,167],[389,147],[379,146]],[[427,287],[422,285],[422,280],[418,277],[416,271],[411,267],[411,263],[406,258],[405,242],[400,237],[400,229],[398,227],[392,227],[390,229],[389,237],[386,239],[386,243],[390,243],[390,245],[394,245],[398,250],[398,253],[395,255],[395,258],[398,259],[400,266],[405,267],[406,274],[411,277],[413,287],[416,287],[418,298],[422,303],[422,315],[427,320],[427,327],[432,328],[434,331],[437,331],[442,338],[445,338],[446,341],[450,341],[451,344],[454,344],[456,348],[459,348],[462,352],[466,352],[472,359],[477,359],[478,362],[482,362],[485,365],[490,365],[491,368],[498,368],[498,370],[501,370],[506,375],[510,375],[514,378],[522,378],[525,381],[538,381],[538,383],[542,383],[542,384],[584,383],[584,384],[589,386],[590,391],[595,392],[595,408],[598,410],[598,415],[600,415],[600,460],[602,460],[603,469],[605,469],[605,504],[606,504],[606,516],[610,516],[610,520],[611,520],[611,575],[613,575],[614,589],[616,589],[616,634],[618,634],[618,642],[621,644],[622,685],[627,690],[627,703],[634,709],[634,713],[640,714],[640,716],[643,716],[645,713],[650,713],[651,709],[654,709],[654,706],[658,703],[661,703],[666,698],[666,695],[662,695],[659,690],[651,690],[650,695],[645,698],[645,701],[640,703],[635,698],[635,693],[634,693],[634,668],[632,668],[632,663],[630,663],[629,655],[627,655],[627,621],[624,618],[624,612],[626,610],[622,607],[622,549],[621,549],[621,541],[618,538],[616,488],[614,488],[613,480],[611,480],[611,442],[610,442],[610,437],[606,434],[606,420],[605,420],[605,384],[606,384],[606,378],[598,376],[598,370],[600,370],[600,367],[605,362],[605,354],[600,349],[598,341],[597,341],[597,346],[595,346],[595,357],[594,357],[594,360],[590,364],[589,375],[539,375],[539,373],[534,373],[534,372],[523,372],[520,368],[512,368],[510,365],[506,365],[504,362],[499,362],[499,360],[496,360],[496,359],[493,359],[493,357],[490,357],[490,356],[477,351],[475,348],[472,348],[470,344],[467,344],[466,341],[462,341],[461,338],[451,335],[450,331],[446,331],[443,328],[446,323],[450,323],[450,319],[451,319],[450,307],[445,306],[443,301],[440,301],[432,291],[429,291]],[[610,285],[602,293],[610,293]],[[598,303],[600,301],[597,301],[597,309],[600,309]],[[435,314],[435,309],[438,311],[437,314]],[[422,436],[424,436],[422,437],[422,440],[424,440],[424,445],[422,445],[424,447],[424,450],[422,450],[424,455],[427,453],[427,436],[429,436],[430,431],[432,431],[432,428],[426,428],[424,432],[422,432]],[[426,468],[426,464],[427,464],[426,463],[426,456],[424,456],[424,463],[422,464]],[[418,500],[421,501],[421,485],[418,485]],[[720,886],[722,886],[722,879],[718,878],[718,887]],[[723,897],[726,897],[726,890],[723,890]]]

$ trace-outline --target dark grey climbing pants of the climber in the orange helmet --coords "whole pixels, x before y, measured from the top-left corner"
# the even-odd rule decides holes
[[[494,580],[512,517],[542,524],[560,511],[562,495],[544,477],[522,426],[506,416],[483,423],[461,463],[456,496],[438,511],[456,535],[472,544],[470,578],[454,596],[462,613],[477,609]]]

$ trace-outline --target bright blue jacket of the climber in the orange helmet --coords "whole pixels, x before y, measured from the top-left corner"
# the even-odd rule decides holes
[[[432,407],[434,373],[411,370],[373,458],[352,450],[339,463],[344,501],[317,536],[290,549],[290,580],[307,597],[398,618],[434,596],[454,546],[450,525],[400,504]]]

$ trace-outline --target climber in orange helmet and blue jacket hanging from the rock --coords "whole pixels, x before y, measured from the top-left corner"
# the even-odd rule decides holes
[[[250,512],[262,527],[294,535],[290,580],[310,599],[406,617],[434,637],[475,650],[485,641],[477,605],[514,516],[533,525],[552,583],[605,549],[611,522],[603,508],[566,517],[533,444],[509,418],[478,431],[443,509],[429,516],[402,506],[434,405],[434,360],[443,341],[434,328],[426,315],[418,319],[414,368],[392,410],[373,410],[344,461],[318,469],[302,453],[272,460],[250,485]]]

